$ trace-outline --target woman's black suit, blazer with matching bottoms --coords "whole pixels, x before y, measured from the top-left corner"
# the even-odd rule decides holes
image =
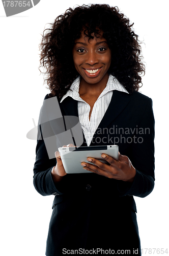
[[[77,101],[71,97],[59,105],[63,116],[78,117]],[[53,125],[52,122],[51,129]],[[55,195],[47,256],[63,255],[68,249],[79,248],[115,252],[128,249],[131,255],[136,254],[135,249],[140,254],[133,196],[148,196],[155,180],[154,115],[149,97],[138,92],[114,91],[90,146],[114,142],[119,145],[120,154],[128,156],[136,169],[132,184],[90,173],[67,174],[56,186],[51,176],[56,160],[49,160],[44,141],[38,140],[34,186],[43,196]],[[84,136],[82,145],[87,146]]]

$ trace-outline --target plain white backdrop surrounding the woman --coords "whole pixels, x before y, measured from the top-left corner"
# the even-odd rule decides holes
[[[58,4],[59,3],[59,4]],[[0,3],[1,27],[1,255],[45,255],[54,196],[43,197],[33,186],[36,141],[26,134],[38,122],[49,90],[40,75],[38,45],[47,23],[69,7],[109,4],[134,22],[142,44],[146,75],[140,92],[153,100],[156,121],[155,188],[135,198],[142,248],[168,248],[168,4],[167,1],[54,1],[6,17]],[[45,27],[46,26],[46,27]],[[144,254],[146,250],[144,249]],[[155,251],[154,255],[159,255]],[[153,251],[152,251],[153,254]],[[162,253],[161,253],[162,254]],[[164,253],[164,255],[167,255]]]

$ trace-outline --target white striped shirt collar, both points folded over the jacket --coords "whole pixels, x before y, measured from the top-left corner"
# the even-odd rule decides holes
[[[80,76],[78,76],[73,81],[70,89],[62,97],[60,102],[62,102],[68,96],[72,97],[75,100],[79,100],[79,98],[80,98],[80,96],[79,96],[79,84],[80,84]],[[120,92],[128,93],[127,90],[124,88],[124,86],[118,81],[118,79],[115,76],[110,74],[109,77],[108,77],[108,81],[107,81],[106,87],[104,88],[104,90],[101,93],[101,95],[103,95],[103,94],[105,94],[107,92],[113,91],[113,90],[117,90],[117,91],[120,91]]]

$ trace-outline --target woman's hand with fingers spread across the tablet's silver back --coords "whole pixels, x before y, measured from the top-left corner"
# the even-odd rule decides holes
[[[132,166],[130,159],[127,156],[123,156],[119,153],[119,160],[102,154],[101,157],[105,159],[110,165],[102,163],[101,161],[88,157],[87,160],[93,164],[82,162],[81,165],[85,166],[83,169],[90,170],[90,172],[103,175],[108,178],[133,182],[136,170]]]

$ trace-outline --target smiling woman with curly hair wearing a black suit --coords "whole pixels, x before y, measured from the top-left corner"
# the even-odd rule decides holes
[[[34,185],[55,195],[47,256],[141,254],[133,196],[154,187],[154,116],[152,100],[137,92],[145,67],[131,27],[117,7],[83,5],[43,35],[41,65],[51,91],[45,100],[55,97],[63,116],[79,117],[81,146],[117,144],[120,151],[119,161],[102,155],[108,164],[81,163],[90,174],[66,174],[59,152],[49,159],[38,139]]]

